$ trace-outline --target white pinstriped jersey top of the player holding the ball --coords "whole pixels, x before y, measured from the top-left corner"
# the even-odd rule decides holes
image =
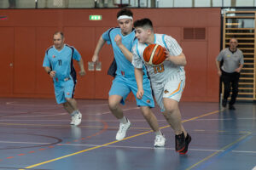
[[[182,53],[182,48],[178,45],[177,41],[171,36],[164,34],[154,34],[154,43],[167,48],[172,56],[177,56]],[[146,43],[136,41],[132,48],[132,65],[136,68],[143,68],[143,51],[148,46]],[[171,61],[165,60],[161,65],[153,66],[146,65],[149,77],[152,82],[153,88],[163,88],[165,82],[172,79],[183,80],[185,78],[185,71],[183,66],[177,66],[172,64]]]

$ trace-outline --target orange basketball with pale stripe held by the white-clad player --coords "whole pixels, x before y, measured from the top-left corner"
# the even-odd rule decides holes
[[[160,65],[166,59],[166,48],[158,44],[150,44],[144,49],[143,58],[147,65]]]

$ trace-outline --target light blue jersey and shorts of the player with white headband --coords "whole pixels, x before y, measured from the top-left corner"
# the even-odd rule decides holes
[[[131,65],[131,62],[125,58],[125,55],[117,46],[116,42],[114,42],[114,37],[116,37],[117,35],[122,37],[122,43],[125,45],[125,48],[131,51],[135,39],[135,31],[131,31],[130,34],[123,36],[121,33],[121,29],[117,27],[111,28],[102,34],[102,38],[106,42],[108,42],[108,44],[112,45],[114,59],[117,65],[116,77],[113,80],[111,89],[109,91],[109,96],[121,96],[121,103],[124,105],[126,97],[128,96],[128,94],[132,92],[136,98],[137,105],[154,107],[154,99],[152,95],[151,84],[148,79],[145,67],[143,67],[143,88],[145,88],[144,95],[143,99],[137,99],[137,82],[135,79],[134,67],[133,65]]]

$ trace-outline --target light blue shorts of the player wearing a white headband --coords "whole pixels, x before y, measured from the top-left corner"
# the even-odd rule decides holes
[[[152,95],[152,89],[150,86],[150,81],[148,78],[143,79],[143,99],[137,99],[137,82],[135,79],[127,79],[125,77],[116,76],[113,79],[112,87],[109,91],[109,96],[111,95],[119,95],[123,99],[121,100],[121,104],[125,105],[125,99],[128,94],[132,92],[134,94],[137,105],[138,106],[149,106],[154,107],[154,99]]]

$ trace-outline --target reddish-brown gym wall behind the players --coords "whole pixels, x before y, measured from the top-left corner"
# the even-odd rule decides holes
[[[109,27],[117,26],[119,9],[6,9],[0,15],[0,97],[53,98],[54,90],[42,67],[44,52],[53,33],[64,31],[66,42],[77,48],[88,70],[96,42]],[[220,47],[220,8],[132,9],[134,19],[153,20],[155,32],[177,39],[187,57],[187,82],[183,101],[218,101],[215,58]],[[102,20],[89,20],[101,14]],[[205,40],[183,40],[184,27],[205,27]],[[113,59],[110,46],[100,53],[102,71],[87,71],[79,77],[75,98],[108,99],[112,77],[107,76]],[[76,65],[78,71],[78,65]],[[130,96],[129,99],[133,97]]]

